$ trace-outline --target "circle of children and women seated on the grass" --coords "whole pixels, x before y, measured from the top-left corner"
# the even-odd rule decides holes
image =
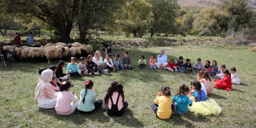
[[[221,65],[221,70],[218,70],[216,61],[212,61],[212,66],[210,66],[210,61],[206,61],[203,66],[200,58],[197,59],[197,62],[192,67],[190,59],[186,59],[187,63],[183,64],[183,57],[179,57],[176,63],[171,59],[166,64],[164,61],[161,62],[167,59],[167,57],[165,58],[166,55],[162,53],[164,53],[164,50],[161,50],[161,54],[158,55],[158,58],[160,58],[158,59],[158,63],[156,63],[155,55],[151,55],[150,69],[156,69],[156,67],[158,67],[159,69],[162,68],[180,72],[191,72],[194,69],[194,71],[198,73],[197,81],[192,81],[190,87],[181,85],[179,91],[175,93],[172,98],[170,97],[170,87],[164,86],[159,90],[158,96],[151,105],[156,117],[169,119],[172,112],[183,115],[188,111],[195,112],[196,114],[201,113],[202,115],[219,115],[221,108],[214,100],[206,100],[206,97],[212,95],[212,87],[232,90],[232,83],[240,84],[241,81],[236,74],[236,68],[232,67],[230,74],[229,71],[225,69],[225,65]],[[128,52],[126,51],[125,54],[123,59],[125,58],[126,60],[123,61],[120,60],[117,54],[114,59],[114,65],[109,55],[106,55],[106,59],[102,62],[99,51],[96,51],[94,57],[92,57],[92,55],[88,55],[87,59],[81,57],[78,65],[75,64],[77,60],[73,57],[71,58],[71,63],[67,65],[66,73],[63,73],[62,70],[62,68],[65,67],[64,61],[60,61],[57,66],[51,65],[49,69],[40,68],[40,77],[35,91],[35,99],[38,100],[39,107],[55,107],[59,115],[70,115],[76,109],[81,113],[91,113],[103,105],[109,116],[123,115],[128,107],[128,102],[125,101],[123,85],[121,83],[112,81],[104,100],[97,100],[96,93],[92,90],[93,81],[87,80],[84,82],[85,89],[81,90],[78,100],[76,94],[70,92],[70,82],[65,80],[75,75],[96,75],[99,71],[104,73],[110,70],[132,69]],[[125,62],[124,67],[122,62]],[[147,67],[145,66],[146,61],[144,56],[141,56],[138,67],[144,69]],[[213,75],[216,78],[213,84],[209,75]],[[212,107],[207,107],[209,105]]]

